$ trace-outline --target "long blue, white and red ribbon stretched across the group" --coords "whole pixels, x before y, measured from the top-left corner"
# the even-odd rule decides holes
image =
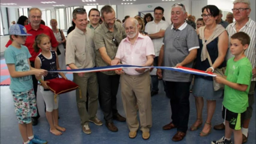
[[[115,71],[120,69],[144,69],[144,68],[157,68],[157,69],[165,69],[169,71],[190,73],[194,75],[203,75],[203,76],[212,76],[215,77],[212,72],[200,71],[197,69],[187,68],[183,66],[179,66],[178,68],[174,67],[166,67],[166,66],[133,66],[133,65],[115,65],[115,66],[102,66],[95,68],[85,68],[85,69],[69,69],[69,70],[60,70],[60,71],[49,71],[49,72],[69,72],[69,73],[84,73],[84,72],[101,72],[101,71]]]

